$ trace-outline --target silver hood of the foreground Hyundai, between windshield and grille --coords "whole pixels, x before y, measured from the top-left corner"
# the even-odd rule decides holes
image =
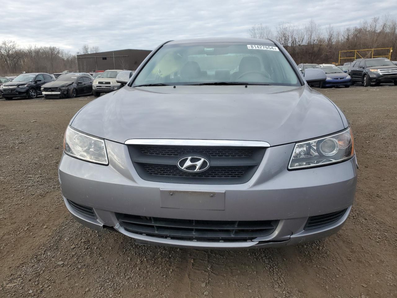
[[[225,139],[266,141],[272,146],[345,128],[335,105],[307,85],[126,86],[87,104],[70,124],[119,143]]]

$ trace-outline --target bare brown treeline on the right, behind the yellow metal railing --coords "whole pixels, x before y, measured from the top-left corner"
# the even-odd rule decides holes
[[[291,23],[278,23],[274,28],[258,24],[252,26],[249,35],[253,38],[276,39],[297,64],[338,62],[339,50],[389,47],[394,49],[391,60],[397,60],[397,21],[389,15],[374,17],[345,29],[336,29],[333,25],[321,27],[314,21],[302,27]],[[387,50],[377,51],[376,54],[385,55]],[[345,57],[348,56],[352,54],[346,53]],[[351,61],[341,60],[341,64]]]

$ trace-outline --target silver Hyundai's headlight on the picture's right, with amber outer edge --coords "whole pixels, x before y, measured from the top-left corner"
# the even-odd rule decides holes
[[[351,129],[321,139],[296,143],[288,169],[308,168],[337,163],[354,155]]]

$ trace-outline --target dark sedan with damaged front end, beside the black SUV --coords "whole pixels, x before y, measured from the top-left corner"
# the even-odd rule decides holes
[[[53,82],[42,85],[45,98],[66,98],[93,92],[93,79],[86,73],[63,74]]]

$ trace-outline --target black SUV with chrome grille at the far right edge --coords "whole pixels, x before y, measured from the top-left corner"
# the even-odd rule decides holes
[[[362,83],[365,87],[375,83],[397,85],[397,66],[387,58],[357,59],[349,68],[351,84]]]

